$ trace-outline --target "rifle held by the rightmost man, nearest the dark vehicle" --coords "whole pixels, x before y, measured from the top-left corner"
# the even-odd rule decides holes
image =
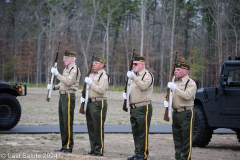
[[[169,76],[169,81],[171,81],[171,82],[175,81],[174,72],[175,72],[176,61],[177,61],[177,52],[176,52],[176,55],[175,55],[174,63],[172,65],[171,75]],[[172,91],[170,90],[170,88],[167,89],[167,95],[166,95],[165,98],[166,98],[166,101],[168,101],[168,107],[165,109],[163,119],[165,121],[169,121],[169,118],[171,117],[171,114],[172,114]]]

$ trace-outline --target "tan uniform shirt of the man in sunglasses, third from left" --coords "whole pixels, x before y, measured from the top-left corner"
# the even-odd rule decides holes
[[[129,90],[130,104],[150,101],[151,95],[153,92],[153,85],[152,85],[153,81],[154,81],[153,77],[150,75],[150,73],[146,69],[143,69],[142,71],[137,73],[136,76],[133,76],[130,84],[130,90]]]

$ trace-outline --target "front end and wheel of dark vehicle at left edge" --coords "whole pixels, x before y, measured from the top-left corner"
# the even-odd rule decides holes
[[[10,84],[0,80],[0,130],[9,130],[17,125],[21,118],[21,105],[17,96],[27,95],[27,86]]]

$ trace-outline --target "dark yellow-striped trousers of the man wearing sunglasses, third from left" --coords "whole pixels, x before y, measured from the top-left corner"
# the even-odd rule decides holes
[[[152,118],[152,104],[131,109],[130,116],[135,145],[134,154],[147,159],[148,133]]]

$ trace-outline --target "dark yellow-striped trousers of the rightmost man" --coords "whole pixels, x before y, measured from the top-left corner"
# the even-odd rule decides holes
[[[194,109],[180,113],[173,112],[172,133],[176,160],[190,160],[192,153],[192,133],[194,128]]]

